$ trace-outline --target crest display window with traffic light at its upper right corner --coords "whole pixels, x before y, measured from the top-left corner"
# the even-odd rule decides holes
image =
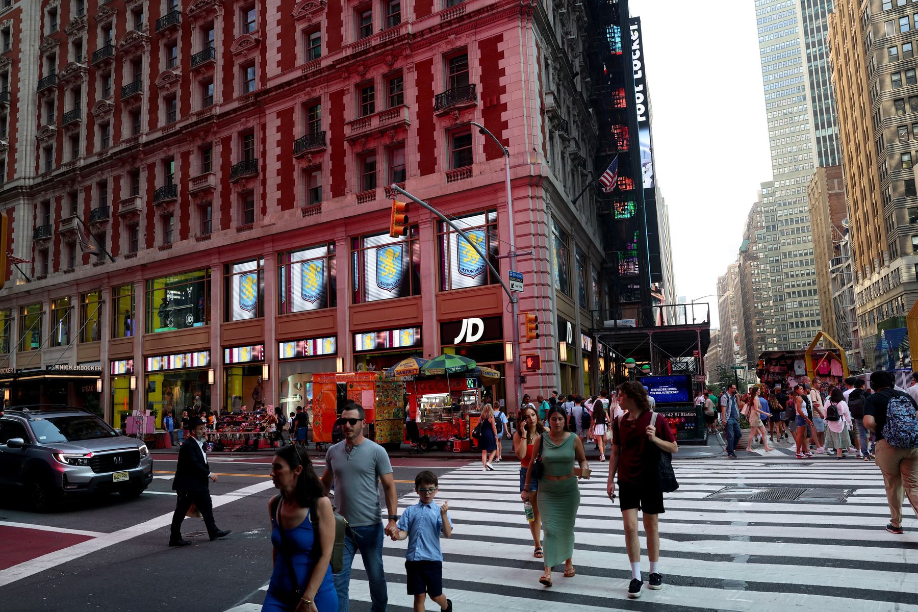
[[[420,295],[418,226],[398,238],[386,231],[352,239],[351,268],[354,304]]]

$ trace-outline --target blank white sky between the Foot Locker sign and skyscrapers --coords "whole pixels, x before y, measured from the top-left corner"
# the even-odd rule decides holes
[[[717,293],[759,184],[771,180],[754,0],[631,0],[669,207],[677,295]],[[711,326],[717,326],[717,298]]]

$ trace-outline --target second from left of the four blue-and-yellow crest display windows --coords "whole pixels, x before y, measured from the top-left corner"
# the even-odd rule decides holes
[[[335,243],[277,254],[279,315],[338,305]]]

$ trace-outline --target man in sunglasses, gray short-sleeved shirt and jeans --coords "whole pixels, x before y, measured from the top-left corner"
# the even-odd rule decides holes
[[[326,490],[330,490],[334,483],[335,509],[348,522],[344,536],[344,564],[341,573],[334,575],[339,612],[348,612],[351,565],[357,551],[364,560],[370,583],[371,610],[386,612],[389,597],[383,567],[383,536],[391,536],[398,530],[398,495],[392,465],[383,447],[364,438],[364,417],[363,406],[344,406],[338,419],[344,440],[331,445],[325,453],[325,473],[322,474]],[[388,509],[385,530],[379,517],[377,483],[380,481],[386,493]]]

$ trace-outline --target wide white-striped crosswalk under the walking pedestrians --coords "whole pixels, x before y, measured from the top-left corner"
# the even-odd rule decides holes
[[[666,514],[660,519],[665,588],[644,590],[638,600],[626,595],[631,570],[621,513],[605,492],[606,465],[594,463],[594,478],[580,484],[577,575],[563,578],[554,573],[551,588],[537,582],[542,564],[532,557],[519,497],[519,464],[498,464],[488,473],[481,472],[480,464],[469,464],[442,475],[438,499],[449,501],[454,528],[453,538],[441,540],[443,587],[453,608],[918,612],[918,521],[906,508],[904,536],[883,529],[889,508],[882,476],[872,462],[783,457],[674,461],[680,487],[666,495]],[[793,502],[729,498],[767,487],[807,492]],[[844,500],[821,496],[835,493]],[[399,506],[416,502],[412,493],[402,497]],[[386,540],[384,553],[389,610],[398,612],[412,606],[404,586],[407,545]],[[646,580],[646,551],[642,554]],[[263,599],[255,595],[233,612],[257,612],[259,596]],[[352,610],[370,609],[369,584],[359,557],[354,561],[351,598]],[[427,609],[439,606],[428,600]]]

